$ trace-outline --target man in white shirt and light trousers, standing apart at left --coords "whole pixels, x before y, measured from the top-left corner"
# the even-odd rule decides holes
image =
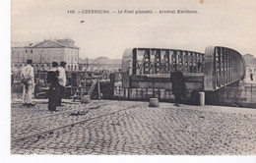
[[[21,79],[23,86],[23,105],[34,106],[32,103],[32,92],[34,87],[32,60],[27,60],[27,65],[22,69]]]

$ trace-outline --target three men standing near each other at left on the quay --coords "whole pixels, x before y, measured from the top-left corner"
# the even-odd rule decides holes
[[[62,97],[64,95],[66,85],[66,62],[52,62],[52,68],[47,72],[48,90],[48,110],[56,111],[56,106],[61,106]],[[22,69],[21,81],[23,87],[23,105],[34,106],[32,103],[32,93],[34,89],[34,74],[32,68],[32,60],[27,61],[27,65]]]

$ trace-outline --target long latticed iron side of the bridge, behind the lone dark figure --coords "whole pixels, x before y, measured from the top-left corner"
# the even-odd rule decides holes
[[[203,73],[204,54],[177,49],[134,48],[125,51],[123,73],[129,75],[169,74],[173,65],[185,73]]]

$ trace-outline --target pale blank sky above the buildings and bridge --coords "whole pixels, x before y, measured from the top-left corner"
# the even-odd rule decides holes
[[[12,0],[11,41],[72,38],[80,47],[80,58],[90,59],[121,59],[131,47],[204,53],[208,46],[225,46],[256,57],[255,7],[254,0]],[[110,14],[78,13],[93,9]],[[68,13],[72,10],[76,14]],[[152,10],[154,14],[113,13],[118,10]],[[160,10],[197,14],[159,14]]]

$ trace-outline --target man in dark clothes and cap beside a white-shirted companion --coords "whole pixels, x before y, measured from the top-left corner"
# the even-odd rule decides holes
[[[56,111],[56,106],[58,105],[59,96],[59,71],[58,63],[52,62],[52,68],[47,73],[47,82],[49,84],[48,90],[48,110]]]

